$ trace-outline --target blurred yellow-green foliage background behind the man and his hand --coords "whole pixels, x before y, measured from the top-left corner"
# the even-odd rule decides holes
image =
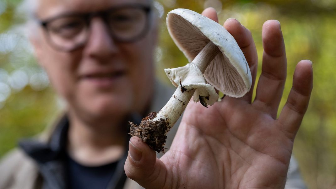
[[[55,120],[63,107],[33,56],[24,30],[20,0],[0,0],[0,157],[20,138],[34,136]],[[219,22],[234,17],[252,32],[259,55],[260,75],[264,21],[277,19],[285,38],[288,77],[280,105],[291,89],[295,66],[313,62],[314,89],[297,134],[294,155],[309,188],[336,188],[336,1],[335,0],[158,0],[160,42],[156,49],[157,75],[167,82],[165,67],[187,63],[168,35],[165,16],[175,8],[202,12],[217,10]],[[258,78],[257,78],[258,79]]]

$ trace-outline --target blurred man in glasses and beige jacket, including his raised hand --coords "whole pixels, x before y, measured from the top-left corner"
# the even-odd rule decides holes
[[[252,86],[244,97],[225,97],[209,109],[189,104],[169,151],[157,159],[148,145],[127,135],[127,121],[160,109],[172,94],[154,78],[152,2],[36,3],[40,25],[31,41],[67,112],[52,132],[20,143],[7,155],[0,188],[140,187],[134,181],[145,188],[285,187],[312,89],[312,67],[307,60],[298,63],[292,91],[276,119],[287,63],[278,21],[263,26],[262,74],[253,103]],[[214,9],[203,15],[218,21]],[[257,53],[251,33],[235,19],[224,27],[245,52],[254,84]],[[217,119],[198,119],[198,114]],[[304,187],[296,171],[288,176],[288,188]]]

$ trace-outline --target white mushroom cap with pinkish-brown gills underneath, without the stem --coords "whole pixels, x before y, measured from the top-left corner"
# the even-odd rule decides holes
[[[205,70],[208,83],[231,97],[244,96],[250,90],[252,77],[245,56],[224,27],[197,12],[180,8],[170,11],[166,21],[170,36],[189,62],[209,41],[222,52]]]

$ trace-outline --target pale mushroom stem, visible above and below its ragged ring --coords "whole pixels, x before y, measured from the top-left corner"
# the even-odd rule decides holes
[[[209,63],[219,52],[220,50],[218,47],[210,41],[192,62],[203,74]],[[160,121],[161,119],[166,120],[169,123],[168,128],[171,128],[176,123],[195,92],[195,90],[184,91],[181,88],[183,88],[181,85],[177,87],[167,104],[157,113],[152,121]],[[169,130],[167,130],[167,132],[168,131]]]

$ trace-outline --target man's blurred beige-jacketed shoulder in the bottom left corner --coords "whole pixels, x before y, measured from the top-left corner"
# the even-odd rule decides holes
[[[33,188],[38,177],[36,163],[21,149],[13,149],[0,160],[0,172],[0,189]]]

